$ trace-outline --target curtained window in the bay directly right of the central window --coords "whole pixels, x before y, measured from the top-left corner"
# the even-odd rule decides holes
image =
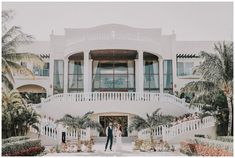
[[[159,64],[157,60],[144,61],[144,90],[159,90]]]

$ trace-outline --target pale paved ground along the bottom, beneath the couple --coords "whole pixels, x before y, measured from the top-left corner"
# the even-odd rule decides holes
[[[46,156],[184,156],[180,152],[140,152],[133,151],[130,143],[123,144],[122,150],[116,152],[115,145],[113,151],[104,151],[104,144],[97,143],[93,146],[93,153],[48,153]]]

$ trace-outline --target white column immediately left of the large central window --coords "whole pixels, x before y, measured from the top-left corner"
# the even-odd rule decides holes
[[[91,77],[90,77],[90,62],[89,62],[89,52],[88,50],[85,50],[84,51],[84,92],[90,92],[91,89]]]

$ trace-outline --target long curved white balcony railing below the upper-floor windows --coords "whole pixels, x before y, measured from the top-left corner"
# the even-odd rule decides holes
[[[139,92],[86,92],[62,93],[42,99],[42,103],[49,102],[97,102],[97,101],[143,101],[169,102],[185,107],[185,99],[177,98],[168,93],[139,93]]]

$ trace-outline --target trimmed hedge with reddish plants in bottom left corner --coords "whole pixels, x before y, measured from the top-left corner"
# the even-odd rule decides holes
[[[34,156],[43,152],[39,139],[26,139],[18,142],[6,143],[2,146],[3,156]]]

